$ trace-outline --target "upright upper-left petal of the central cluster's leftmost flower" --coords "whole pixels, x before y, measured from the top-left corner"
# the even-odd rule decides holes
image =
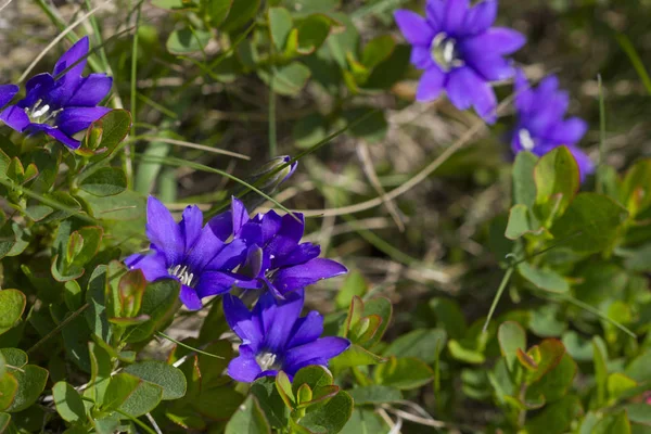
[[[146,237],[167,260],[168,267],[179,265],[183,258],[184,242],[171,213],[154,196],[146,200]]]

